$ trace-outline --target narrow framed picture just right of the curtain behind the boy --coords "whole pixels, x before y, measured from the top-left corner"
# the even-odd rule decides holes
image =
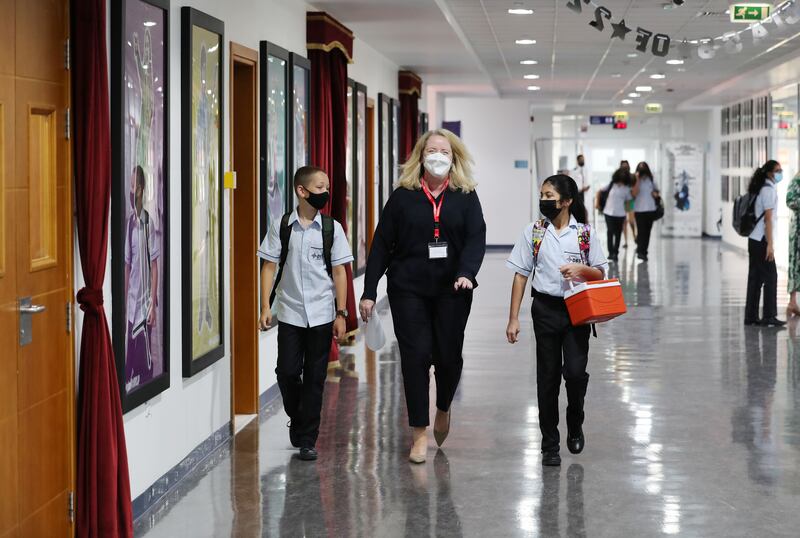
[[[367,269],[367,87],[356,84],[356,247],[353,252],[355,276]]]

